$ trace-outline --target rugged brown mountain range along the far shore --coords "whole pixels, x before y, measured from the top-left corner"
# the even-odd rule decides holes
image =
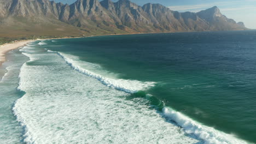
[[[217,7],[179,13],[161,4],[139,6],[129,0],[0,0],[0,38],[79,35],[231,31],[247,29]]]

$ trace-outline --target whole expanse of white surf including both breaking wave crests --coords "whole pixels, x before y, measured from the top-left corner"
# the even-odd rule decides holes
[[[19,88],[26,94],[13,110],[26,129],[27,143],[247,143],[164,107],[162,115],[182,128],[168,123],[149,109],[147,99],[126,100],[129,94],[124,92],[154,83],[109,79],[86,70],[74,57],[57,53],[74,70],[55,52],[24,53],[31,62],[51,63],[21,68]]]

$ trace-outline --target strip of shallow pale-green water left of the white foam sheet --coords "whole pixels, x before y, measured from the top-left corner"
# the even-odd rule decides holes
[[[12,107],[13,102],[20,98],[16,92],[18,75],[27,58],[14,50],[8,53],[7,59],[9,61],[4,62],[1,67],[1,70],[5,67],[5,74],[0,77],[0,143],[18,144],[22,140],[22,127],[13,116]]]

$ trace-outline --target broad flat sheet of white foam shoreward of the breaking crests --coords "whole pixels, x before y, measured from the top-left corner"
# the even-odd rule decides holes
[[[124,100],[120,97],[124,92],[106,88],[83,74],[50,73],[51,68],[26,63],[21,67],[19,89],[26,94],[15,101],[13,112],[24,127],[25,143],[197,142],[147,105]],[[56,81],[46,82],[45,77]],[[56,91],[53,85],[64,89]]]

